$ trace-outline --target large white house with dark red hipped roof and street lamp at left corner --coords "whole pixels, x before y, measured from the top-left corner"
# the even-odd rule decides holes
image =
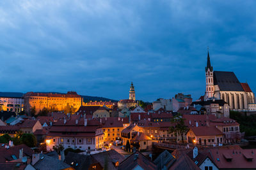
[[[54,122],[45,143],[48,151],[56,145],[63,145],[64,149],[97,150],[104,146],[103,136],[98,120],[88,120],[85,116],[77,119],[71,117]]]

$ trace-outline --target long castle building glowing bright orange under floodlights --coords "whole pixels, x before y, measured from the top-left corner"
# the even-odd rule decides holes
[[[67,94],[28,92],[24,95],[24,109],[28,113],[34,107],[36,113],[43,108],[54,111],[63,111],[65,108],[72,108],[72,113],[75,113],[82,102],[82,97],[76,92],[67,92]]]

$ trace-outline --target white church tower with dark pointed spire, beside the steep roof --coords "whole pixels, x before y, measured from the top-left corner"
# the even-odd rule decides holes
[[[213,83],[213,67],[211,66],[210,55],[208,50],[207,66],[205,67],[205,96],[204,100],[214,97],[214,83]]]

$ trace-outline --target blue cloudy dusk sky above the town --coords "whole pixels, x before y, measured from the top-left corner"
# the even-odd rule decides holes
[[[214,70],[256,91],[256,1],[0,1],[0,91],[197,99]]]

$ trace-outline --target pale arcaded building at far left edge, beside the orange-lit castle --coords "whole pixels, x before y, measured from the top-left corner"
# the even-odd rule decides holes
[[[22,97],[0,97],[0,110],[20,113],[23,111],[23,106],[24,99]]]

